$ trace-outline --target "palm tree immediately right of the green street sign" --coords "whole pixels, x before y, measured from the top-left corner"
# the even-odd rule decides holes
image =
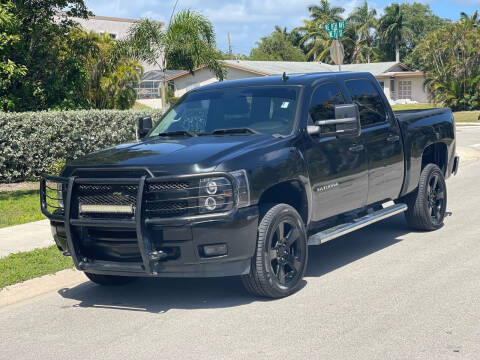
[[[375,30],[378,26],[376,18],[377,11],[369,8],[364,0],[361,6],[356,7],[348,17],[349,22],[355,27],[355,33],[358,36],[358,52],[366,54],[367,62],[370,63],[373,54],[373,45],[375,42]]]

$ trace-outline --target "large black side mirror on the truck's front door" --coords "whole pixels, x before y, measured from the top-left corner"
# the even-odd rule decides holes
[[[360,135],[360,113],[356,104],[335,105],[335,119],[320,120],[308,126],[311,135],[354,137]]]

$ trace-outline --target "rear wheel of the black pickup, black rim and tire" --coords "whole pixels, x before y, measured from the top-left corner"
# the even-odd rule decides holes
[[[447,209],[447,185],[442,170],[428,164],[420,174],[418,188],[404,198],[405,218],[415,230],[433,231],[443,226]]]

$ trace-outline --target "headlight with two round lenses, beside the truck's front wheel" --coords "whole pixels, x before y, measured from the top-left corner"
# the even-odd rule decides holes
[[[201,214],[225,212],[233,208],[234,189],[239,208],[250,206],[250,188],[247,172],[238,170],[230,173],[234,183],[226,177],[205,178],[200,180],[199,209]]]

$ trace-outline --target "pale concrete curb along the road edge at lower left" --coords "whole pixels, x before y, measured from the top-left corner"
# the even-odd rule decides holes
[[[44,275],[10,285],[0,290],[0,309],[6,306],[22,303],[37,296],[72,287],[85,282],[87,278],[81,271],[67,269],[55,274]]]

